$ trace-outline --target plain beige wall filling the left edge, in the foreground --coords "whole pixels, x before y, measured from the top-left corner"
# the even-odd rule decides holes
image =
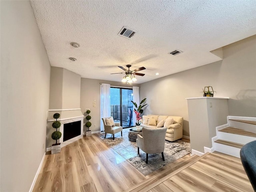
[[[0,3],[0,191],[27,192],[45,152],[50,63],[30,1]]]

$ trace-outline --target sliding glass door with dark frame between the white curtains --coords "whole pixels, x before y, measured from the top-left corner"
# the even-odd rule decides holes
[[[110,87],[111,116],[123,128],[132,127],[132,89]]]

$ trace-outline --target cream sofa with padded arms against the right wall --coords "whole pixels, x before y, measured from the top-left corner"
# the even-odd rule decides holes
[[[173,124],[167,127],[165,140],[175,141],[183,137],[183,117],[180,116],[159,116],[159,115],[147,115],[150,118],[156,119],[156,125],[143,124],[143,120],[140,120],[140,126],[146,128],[157,128],[157,124],[164,119],[164,121],[171,117],[174,120]]]

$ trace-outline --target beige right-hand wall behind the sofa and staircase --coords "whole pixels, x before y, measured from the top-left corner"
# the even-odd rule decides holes
[[[256,36],[223,48],[223,60],[140,84],[147,98],[145,114],[184,117],[183,135],[189,136],[185,98],[202,96],[212,86],[216,97],[230,97],[229,115],[256,116]]]

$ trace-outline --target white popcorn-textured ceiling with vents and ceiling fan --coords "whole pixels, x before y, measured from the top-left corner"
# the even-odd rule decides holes
[[[123,74],[110,73],[131,64],[130,69],[146,68],[140,71],[145,76],[136,76],[140,84],[221,60],[210,51],[256,34],[255,0],[36,0],[31,5],[50,64],[84,78],[121,81]],[[123,26],[136,34],[118,36]],[[168,54],[175,49],[183,53]]]

